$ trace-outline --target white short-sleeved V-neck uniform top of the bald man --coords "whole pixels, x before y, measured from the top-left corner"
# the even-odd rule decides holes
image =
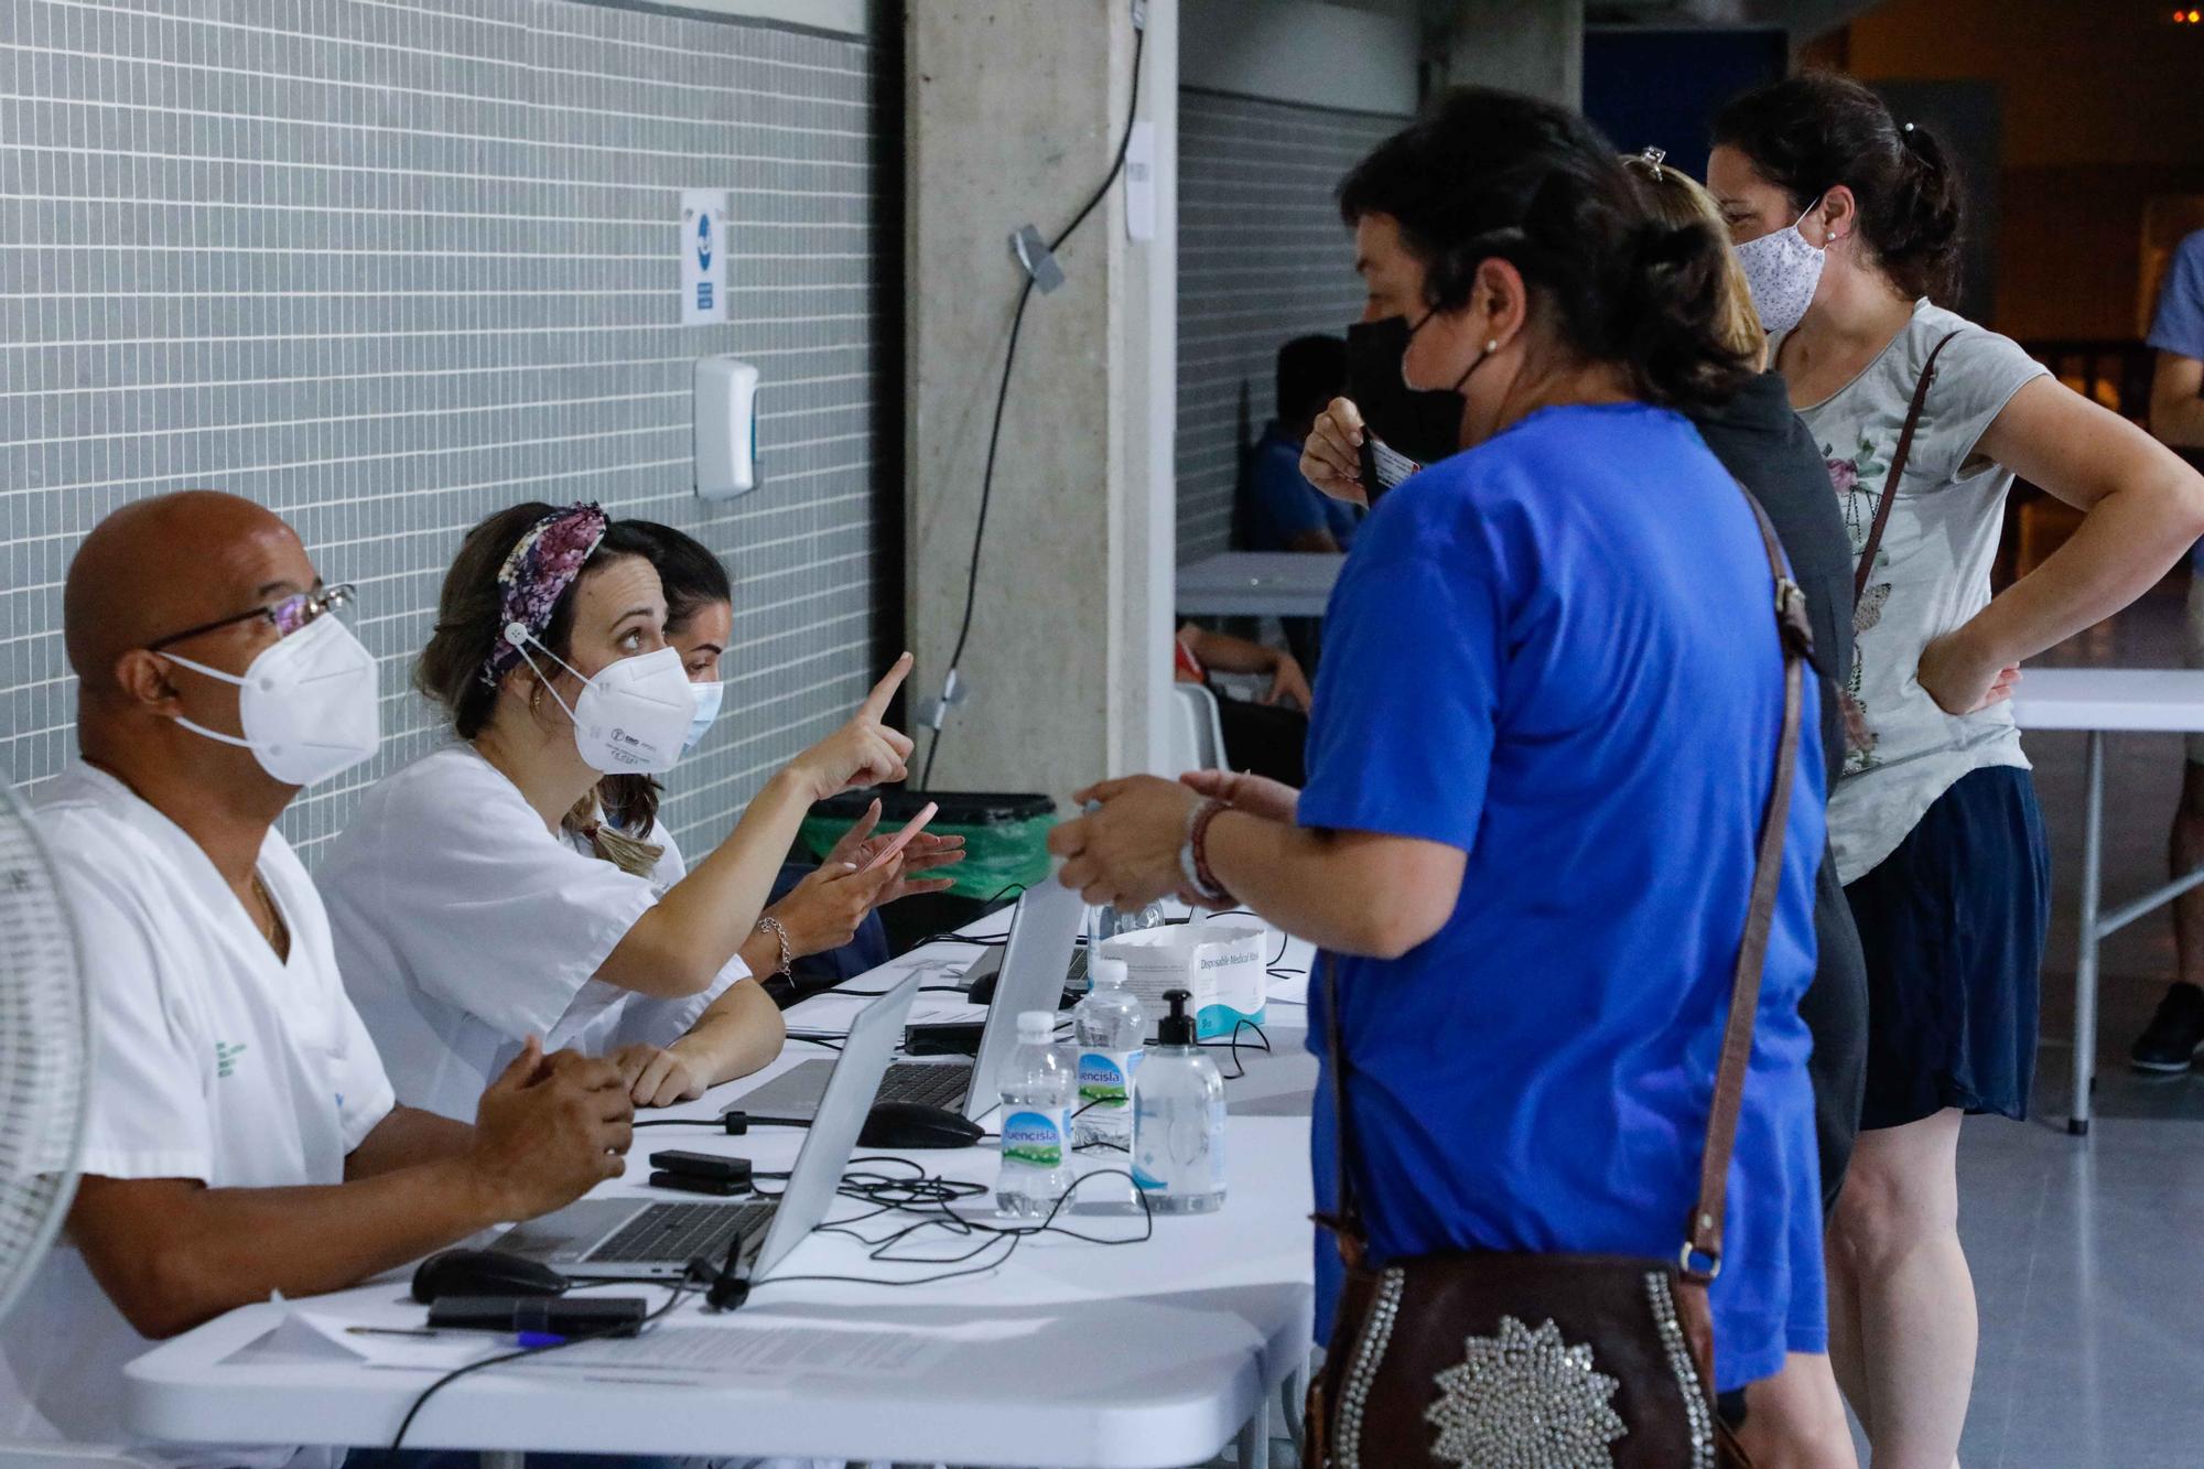
[[[214,862],[121,781],[77,765],[37,803],[75,915],[97,1037],[84,1171],[212,1189],[344,1182],[390,1114],[344,997],[322,900],[269,832],[260,880],[291,931],[278,959]],[[0,1323],[0,1438],[128,1443],[121,1370],[152,1348],[64,1240]],[[11,1381],[13,1379],[13,1381]],[[342,1449],[194,1447],[181,1465],[333,1462]]]

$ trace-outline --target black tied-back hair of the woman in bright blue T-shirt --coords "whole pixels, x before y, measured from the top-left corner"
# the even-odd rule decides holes
[[[1397,221],[1437,311],[1508,260],[1563,344],[1624,368],[1644,401],[1715,404],[1750,371],[1721,326],[1728,240],[1653,221],[1613,146],[1567,108],[1450,93],[1347,174],[1340,214]]]

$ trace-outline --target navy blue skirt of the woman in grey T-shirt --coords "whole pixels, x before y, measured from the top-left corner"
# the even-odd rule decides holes
[[[1867,955],[1862,1132],[2028,1116],[2050,891],[2036,785],[2012,765],[1962,776],[1845,887]]]

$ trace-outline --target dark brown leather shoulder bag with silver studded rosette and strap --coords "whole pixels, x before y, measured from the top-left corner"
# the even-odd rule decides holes
[[[1746,496],[1752,503],[1752,496]],[[1360,1213],[1351,1076],[1336,962],[1325,957],[1338,1136],[1338,1213],[1318,1215],[1347,1264],[1325,1368],[1309,1387],[1311,1469],[1750,1469],[1715,1414],[1706,1286],[1737,1109],[1752,1054],[1798,765],[1805,596],[1752,503],[1783,642],[1783,735],[1761,812],[1752,898],[1730,984],[1699,1200],[1673,1259],[1446,1253],[1373,1259]]]

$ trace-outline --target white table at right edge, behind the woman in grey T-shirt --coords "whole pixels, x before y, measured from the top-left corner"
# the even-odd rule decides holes
[[[2023,730],[2081,730],[2089,737],[2083,757],[2081,951],[2074,957],[2074,1103],[2067,1112],[2067,1132],[2085,1136],[2089,1090],[2096,1083],[2098,946],[2144,913],[2204,882],[2204,867],[2197,867],[2133,902],[2103,911],[2105,735],[2204,732],[2204,671],[2030,668],[2012,697],[2012,715]]]

